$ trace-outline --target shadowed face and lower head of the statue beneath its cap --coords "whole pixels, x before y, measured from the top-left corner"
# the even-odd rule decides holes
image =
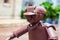
[[[34,23],[37,23],[40,20],[42,20],[44,15],[42,15],[42,14],[39,14],[39,15],[26,15],[25,17],[26,17],[27,21],[30,24],[34,24]]]

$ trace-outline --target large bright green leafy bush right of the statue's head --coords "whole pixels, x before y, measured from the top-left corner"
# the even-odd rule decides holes
[[[51,20],[55,20],[58,18],[60,7],[53,7],[53,3],[49,2],[43,2],[42,4],[40,4],[40,6],[44,6],[47,11],[44,20],[46,20],[47,18],[50,18]]]

